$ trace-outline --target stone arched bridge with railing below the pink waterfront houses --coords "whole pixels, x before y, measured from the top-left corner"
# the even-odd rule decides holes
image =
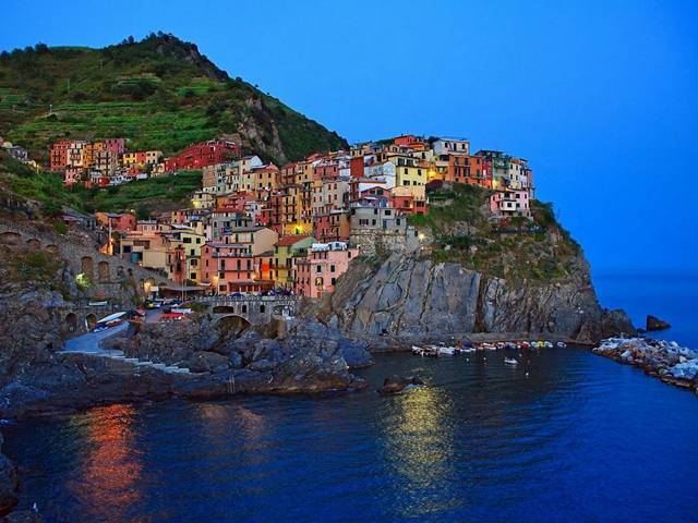
[[[274,318],[294,316],[298,296],[204,296],[196,300],[207,305],[215,321],[239,317],[251,325],[266,325]]]

